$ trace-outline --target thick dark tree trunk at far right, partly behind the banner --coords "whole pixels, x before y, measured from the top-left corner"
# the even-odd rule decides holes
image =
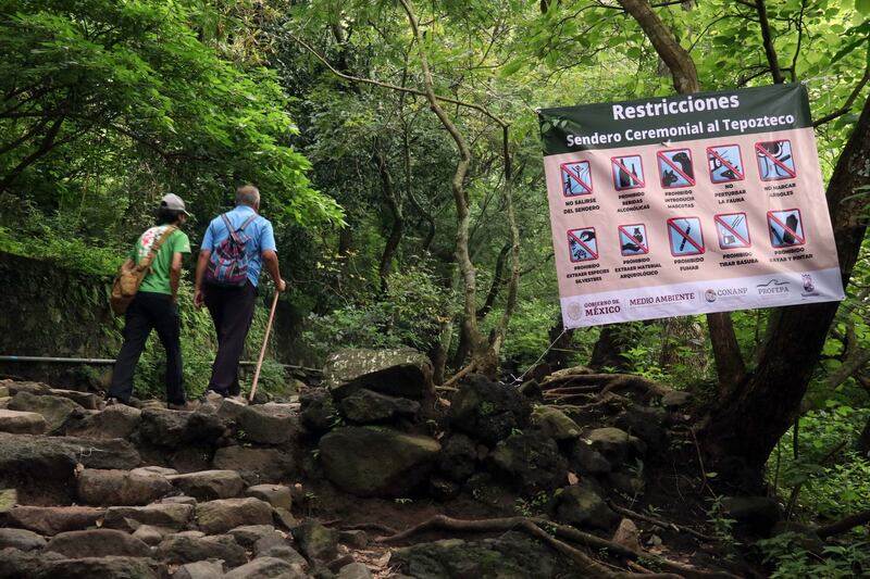
[[[846,143],[828,185],[828,210],[843,286],[848,284],[867,229],[870,186],[870,101]],[[738,456],[760,473],[776,441],[794,423],[840,303],[798,305],[772,320],[758,369],[745,387],[720,398],[700,432],[712,462]]]

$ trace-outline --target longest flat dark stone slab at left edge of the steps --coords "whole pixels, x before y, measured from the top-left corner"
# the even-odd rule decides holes
[[[99,441],[0,432],[0,482],[14,477],[40,481],[67,480],[73,476],[76,463],[82,463],[86,468],[130,469],[139,461],[139,453],[124,440]]]

